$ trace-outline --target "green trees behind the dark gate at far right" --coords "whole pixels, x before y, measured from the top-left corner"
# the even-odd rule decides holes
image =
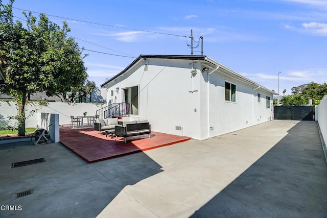
[[[327,94],[327,84],[308,83],[292,88],[292,94],[283,96],[283,105],[307,105],[312,100],[312,105],[320,103],[322,97]]]

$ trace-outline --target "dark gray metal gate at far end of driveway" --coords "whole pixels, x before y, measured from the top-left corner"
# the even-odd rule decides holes
[[[274,119],[314,120],[312,106],[275,106]]]

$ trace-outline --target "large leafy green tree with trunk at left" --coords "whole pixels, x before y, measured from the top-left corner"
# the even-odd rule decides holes
[[[46,91],[50,96],[83,85],[87,78],[81,51],[67,23],[60,28],[41,14],[39,20],[25,15],[23,26],[14,20],[12,5],[0,0],[0,55],[7,83],[1,91],[13,96],[17,106],[18,135],[25,135],[25,105],[29,93]]]

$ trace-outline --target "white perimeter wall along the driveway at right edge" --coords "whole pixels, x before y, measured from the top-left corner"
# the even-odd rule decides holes
[[[316,106],[315,120],[318,121],[323,140],[327,143],[327,94],[323,96],[320,104]]]

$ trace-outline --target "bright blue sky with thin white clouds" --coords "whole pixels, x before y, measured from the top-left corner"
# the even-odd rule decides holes
[[[65,20],[98,86],[141,54],[191,55],[191,29],[195,41],[203,37],[204,55],[254,82],[277,92],[281,72],[281,94],[327,82],[326,0],[16,0],[13,7],[15,18],[25,10]]]

